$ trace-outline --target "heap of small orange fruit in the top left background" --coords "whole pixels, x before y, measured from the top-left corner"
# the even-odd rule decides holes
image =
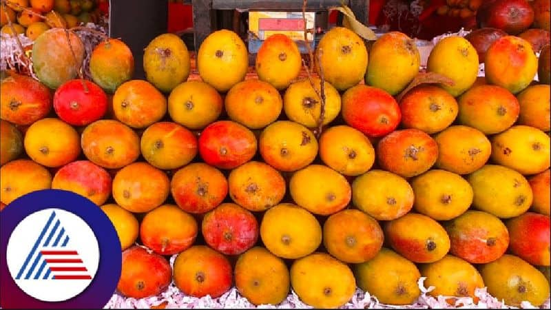
[[[31,40],[50,28],[97,23],[98,0],[2,0],[0,33],[25,34]],[[10,27],[9,22],[12,23]]]

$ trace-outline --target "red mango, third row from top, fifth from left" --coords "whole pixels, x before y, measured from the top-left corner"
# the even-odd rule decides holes
[[[247,127],[233,121],[207,126],[199,137],[199,153],[205,163],[220,169],[233,169],[256,154],[256,137]]]

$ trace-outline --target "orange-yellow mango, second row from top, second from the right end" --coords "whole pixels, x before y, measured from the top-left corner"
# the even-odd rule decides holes
[[[484,134],[497,134],[519,117],[520,105],[508,90],[496,85],[472,87],[459,98],[459,123]]]

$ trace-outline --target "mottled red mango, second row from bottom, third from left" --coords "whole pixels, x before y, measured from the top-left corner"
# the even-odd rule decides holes
[[[258,222],[251,211],[234,203],[223,203],[205,214],[202,236],[216,251],[238,255],[258,240]]]

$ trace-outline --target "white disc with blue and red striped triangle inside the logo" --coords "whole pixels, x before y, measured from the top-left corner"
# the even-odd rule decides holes
[[[44,209],[15,227],[6,260],[12,278],[25,293],[61,302],[84,291],[94,279],[98,240],[79,216],[63,209]]]

